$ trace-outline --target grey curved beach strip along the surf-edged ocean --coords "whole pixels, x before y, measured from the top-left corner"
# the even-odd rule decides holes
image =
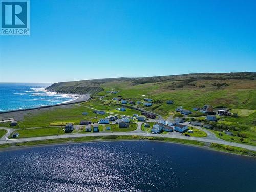
[[[62,105],[69,105],[69,104],[75,104],[87,101],[91,98],[90,94],[83,94],[80,97],[67,102],[62,102],[58,104],[52,104],[52,105],[44,105],[44,106],[36,106],[34,108],[23,108],[23,109],[16,109],[16,110],[8,110],[8,111],[0,111],[0,114],[6,114],[6,113],[12,113],[12,112],[20,112],[20,111],[28,111],[28,110],[35,110],[35,109],[43,109],[43,108],[52,108],[53,106],[62,106]]]

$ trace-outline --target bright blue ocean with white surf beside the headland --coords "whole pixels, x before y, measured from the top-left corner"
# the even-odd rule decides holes
[[[79,95],[47,91],[47,83],[0,83],[0,111],[64,103]]]

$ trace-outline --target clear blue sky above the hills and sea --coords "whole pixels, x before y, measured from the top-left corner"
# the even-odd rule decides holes
[[[256,1],[31,0],[0,82],[256,72]]]

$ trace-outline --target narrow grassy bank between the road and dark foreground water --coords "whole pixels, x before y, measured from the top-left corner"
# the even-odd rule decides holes
[[[95,139],[95,140],[89,140],[89,141],[69,141],[67,143],[45,143],[45,144],[36,144],[36,145],[21,145],[21,146],[9,146],[5,148],[0,148],[0,153],[1,152],[9,152],[9,151],[15,151],[15,150],[25,150],[25,149],[30,149],[30,148],[37,148],[37,147],[51,147],[51,146],[65,146],[65,145],[74,145],[74,144],[83,144],[83,143],[100,143],[100,142],[126,142],[126,141],[143,141],[143,142],[164,142],[164,143],[172,143],[176,145],[184,145],[188,147],[197,147],[202,150],[209,150],[209,151],[214,151],[214,152],[220,152],[224,154],[229,154],[229,155],[239,155],[243,157],[249,157],[249,158],[255,158],[250,155],[245,155],[245,154],[238,154],[238,153],[232,153],[232,152],[227,152],[227,151],[222,151],[222,150],[217,150],[216,148],[211,148],[209,146],[200,146],[200,145],[195,145],[195,144],[185,144],[185,143],[178,143],[178,142],[173,142],[173,141],[159,141],[159,140],[149,140],[149,139],[143,139],[143,140],[136,140],[136,139],[120,139],[120,140],[115,140],[115,139],[108,139],[108,140],[101,140],[101,139]]]

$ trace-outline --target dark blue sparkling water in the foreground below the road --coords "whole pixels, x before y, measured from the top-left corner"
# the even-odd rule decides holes
[[[179,144],[98,142],[0,152],[0,191],[253,192],[256,160]]]

